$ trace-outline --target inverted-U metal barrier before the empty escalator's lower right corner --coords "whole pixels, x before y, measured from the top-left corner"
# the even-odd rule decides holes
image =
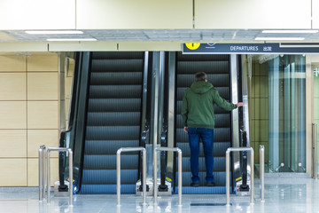
[[[121,205],[121,153],[122,152],[143,152],[143,205],[146,205],[146,149],[144,147],[119,148],[116,153],[116,186],[117,186],[117,205]]]

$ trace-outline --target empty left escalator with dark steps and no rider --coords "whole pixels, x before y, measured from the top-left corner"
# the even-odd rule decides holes
[[[75,118],[83,116],[76,129],[82,125],[84,133],[70,139],[75,192],[116,193],[117,150],[141,146],[144,52],[87,54],[78,61],[88,64],[87,90],[76,91],[79,99],[86,97],[78,101],[85,107]],[[121,193],[136,192],[140,161],[138,153],[121,154]]]

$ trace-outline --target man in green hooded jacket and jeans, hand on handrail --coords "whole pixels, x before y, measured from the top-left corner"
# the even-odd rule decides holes
[[[207,83],[206,73],[195,74],[195,82],[191,88],[183,94],[182,116],[184,131],[189,134],[191,149],[191,186],[199,186],[199,140],[203,141],[205,164],[206,164],[206,185],[214,186],[214,104],[223,109],[231,111],[242,102],[232,104],[219,95],[212,83]]]

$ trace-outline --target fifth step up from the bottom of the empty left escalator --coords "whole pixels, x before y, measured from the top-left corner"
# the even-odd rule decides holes
[[[87,126],[88,140],[138,140],[140,126]]]

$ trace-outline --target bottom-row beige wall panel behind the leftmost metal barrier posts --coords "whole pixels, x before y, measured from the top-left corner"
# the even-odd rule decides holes
[[[51,158],[51,186],[58,180],[58,158]],[[27,159],[27,186],[39,185],[39,160]]]

